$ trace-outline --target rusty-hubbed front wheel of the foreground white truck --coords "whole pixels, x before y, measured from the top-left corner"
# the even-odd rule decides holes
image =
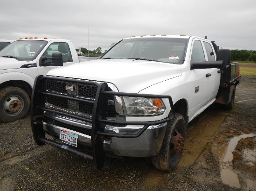
[[[170,172],[177,166],[182,156],[185,134],[185,120],[182,115],[176,113],[173,120],[168,122],[160,152],[151,157],[156,168]]]

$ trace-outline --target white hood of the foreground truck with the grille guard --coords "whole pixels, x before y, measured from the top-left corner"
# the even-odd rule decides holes
[[[156,83],[181,76],[182,65],[143,60],[100,59],[50,70],[47,75],[113,83],[121,92],[138,93]]]

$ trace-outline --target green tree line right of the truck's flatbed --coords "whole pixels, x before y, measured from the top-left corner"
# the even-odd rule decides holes
[[[231,50],[231,60],[256,62],[256,51]]]

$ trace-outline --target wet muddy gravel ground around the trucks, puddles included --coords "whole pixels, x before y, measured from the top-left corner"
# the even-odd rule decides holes
[[[0,191],[256,191],[256,76],[243,76],[231,111],[208,108],[189,123],[182,158],[169,173],[148,159],[92,162],[36,146],[29,115],[0,123]]]

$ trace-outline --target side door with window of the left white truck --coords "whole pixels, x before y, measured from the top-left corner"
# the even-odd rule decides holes
[[[68,66],[74,64],[70,48],[65,42],[55,42],[49,45],[46,51],[42,54],[42,57],[52,57],[54,52],[61,52],[63,58],[63,66]],[[45,60],[46,63],[52,63],[52,60]],[[37,61],[39,63],[39,61]],[[38,64],[38,73],[40,75],[46,75],[49,70],[52,70],[59,66],[39,66]]]

